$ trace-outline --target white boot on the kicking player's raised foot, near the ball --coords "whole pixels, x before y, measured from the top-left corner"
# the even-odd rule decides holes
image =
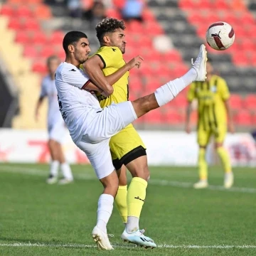
[[[205,81],[206,80],[206,62],[207,62],[207,51],[206,46],[203,44],[200,46],[198,56],[193,62],[193,59],[191,59],[192,68],[196,70],[197,77],[196,81]]]

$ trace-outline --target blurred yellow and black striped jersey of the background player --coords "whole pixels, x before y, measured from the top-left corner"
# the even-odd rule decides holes
[[[198,100],[198,126],[205,130],[216,129],[227,122],[225,100],[230,97],[228,85],[223,78],[213,75],[210,81],[193,82],[188,90],[188,101]]]

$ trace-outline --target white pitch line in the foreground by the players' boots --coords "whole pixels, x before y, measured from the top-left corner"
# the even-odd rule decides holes
[[[92,248],[95,245],[78,245],[78,244],[63,244],[63,245],[55,245],[55,244],[45,244],[45,243],[25,243],[25,242],[15,242],[10,244],[0,244],[0,246],[6,247],[80,247],[80,248]],[[129,248],[136,247],[136,245],[113,245],[117,248]],[[158,248],[170,248],[170,249],[256,249],[256,245],[158,245]]]

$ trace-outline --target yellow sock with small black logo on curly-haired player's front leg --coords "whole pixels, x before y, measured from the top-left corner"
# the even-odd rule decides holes
[[[146,198],[147,182],[143,178],[132,178],[127,193],[128,216],[139,218]]]

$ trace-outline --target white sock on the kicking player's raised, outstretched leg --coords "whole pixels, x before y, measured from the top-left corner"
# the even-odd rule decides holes
[[[196,70],[191,68],[188,72],[183,75],[181,78],[177,78],[170,82],[167,82],[165,85],[162,85],[156,92],[154,92],[156,96],[156,101],[159,107],[165,105],[170,102],[181,92],[185,87],[191,84],[194,80],[196,80]]]

